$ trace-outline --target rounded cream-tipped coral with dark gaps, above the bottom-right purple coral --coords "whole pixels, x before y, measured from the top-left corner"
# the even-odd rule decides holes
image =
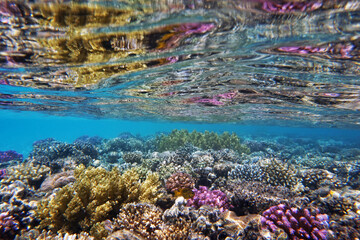
[[[261,163],[264,176],[263,180],[273,186],[294,188],[299,179],[293,165],[283,163],[276,159],[266,159]]]

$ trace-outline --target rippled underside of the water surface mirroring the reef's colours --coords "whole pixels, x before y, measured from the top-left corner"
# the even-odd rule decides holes
[[[0,3],[0,107],[360,125],[358,1]]]

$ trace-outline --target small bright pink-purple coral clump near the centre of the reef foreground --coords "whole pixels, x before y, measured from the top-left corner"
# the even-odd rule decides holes
[[[221,212],[231,207],[225,193],[220,190],[208,190],[205,186],[193,189],[194,197],[187,201],[187,206],[200,208],[202,205],[208,205],[220,209]]]

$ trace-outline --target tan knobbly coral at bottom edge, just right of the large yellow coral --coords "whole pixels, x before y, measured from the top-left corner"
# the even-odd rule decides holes
[[[108,221],[106,224],[115,231],[116,235],[119,235],[118,230],[125,230],[143,239],[186,239],[190,232],[190,223],[176,221],[173,224],[166,224],[162,220],[162,214],[162,210],[155,205],[129,203],[120,209],[118,217],[113,222]],[[110,235],[107,239],[113,237],[114,235]]]

